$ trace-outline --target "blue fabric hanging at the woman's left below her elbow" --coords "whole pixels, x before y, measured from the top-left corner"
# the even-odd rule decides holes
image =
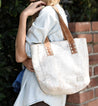
[[[25,69],[26,68],[24,67],[24,69],[18,74],[16,80],[12,84],[13,90],[16,93],[19,93],[19,91],[20,91],[21,82],[22,82],[22,78],[23,78],[23,74],[24,74]]]

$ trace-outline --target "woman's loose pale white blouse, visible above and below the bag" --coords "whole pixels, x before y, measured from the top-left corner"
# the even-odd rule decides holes
[[[64,10],[59,4],[56,7],[68,26],[67,16]],[[33,43],[43,43],[46,36],[49,37],[50,41],[63,40],[57,13],[51,6],[46,6],[40,11],[39,16],[28,30],[26,36],[26,53],[30,58],[30,45]],[[21,90],[14,106],[29,106],[41,101],[44,101],[49,106],[65,106],[66,95],[52,96],[45,94],[39,87],[35,73],[26,69],[23,75]]]

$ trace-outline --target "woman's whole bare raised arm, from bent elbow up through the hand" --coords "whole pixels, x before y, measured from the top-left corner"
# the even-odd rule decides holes
[[[19,27],[15,42],[15,55],[17,62],[23,62],[28,58],[25,51],[27,18],[28,16],[31,16],[41,10],[43,5],[45,5],[45,3],[42,1],[31,3],[20,15]]]

